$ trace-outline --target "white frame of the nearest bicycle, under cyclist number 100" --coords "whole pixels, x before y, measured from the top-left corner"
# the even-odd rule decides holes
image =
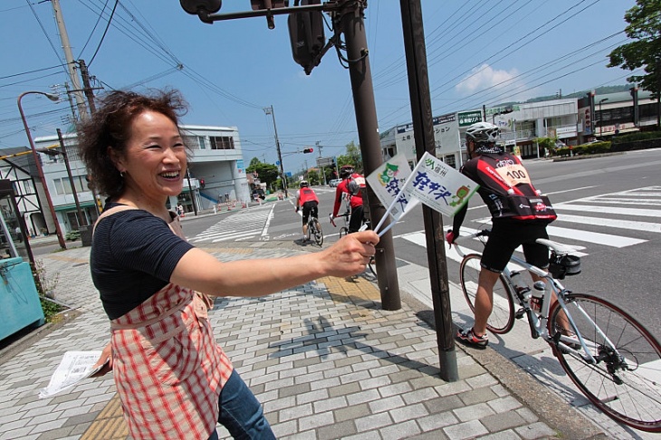
[[[458,237],[458,239],[460,238],[463,241],[468,238],[478,238],[484,235],[485,235],[484,231],[480,231],[474,234]],[[553,246],[549,244],[552,242],[549,241],[544,241],[544,242],[548,242],[548,243],[542,243],[542,244],[545,244],[551,249],[554,249]],[[458,245],[455,244],[455,248],[457,249],[457,252],[460,255],[462,256],[465,255],[465,253],[463,253],[460,250]],[[541,299],[539,316],[538,313],[532,311],[530,307],[530,300],[527,298],[521,298],[516,293],[516,290],[514,289],[513,282],[511,279],[511,273],[512,273],[512,270],[510,269],[511,263],[521,266],[523,270],[528,271],[530,273],[534,273],[540,276],[544,280],[544,283],[546,284],[546,288],[544,289],[544,296]],[[589,362],[591,364],[596,364],[599,362],[600,359],[595,359],[590,354],[586,340],[580,334],[580,330],[578,329],[578,326],[576,325],[574,319],[571,317],[571,313],[567,307],[566,302],[564,301],[565,294],[570,291],[566,289],[560,283],[560,281],[553,278],[551,273],[548,273],[547,271],[544,271],[543,269],[540,269],[539,267],[534,266],[530,263],[526,263],[524,260],[517,257],[516,255],[512,255],[512,257],[510,258],[510,263],[508,263],[508,265],[503,270],[503,275],[507,280],[507,284],[508,284],[507,287],[509,288],[508,294],[513,296],[514,303],[518,303],[519,305],[521,305],[523,307],[523,311],[525,311],[526,313],[526,316],[528,318],[528,323],[531,328],[531,336],[533,339],[541,337],[543,340],[546,340],[551,345],[555,345],[558,349],[562,349],[576,356],[580,356],[586,362]],[[558,305],[560,306],[560,309],[564,312],[567,320],[569,321],[571,329],[575,334],[575,337],[562,335],[560,332],[557,332],[554,335],[550,334],[548,323],[549,323],[549,312],[551,311],[551,299],[553,297],[555,297],[556,301],[558,301]],[[586,320],[589,321],[590,325],[599,333],[599,336],[604,338],[604,340],[608,343],[610,349],[613,349],[614,352],[618,354],[618,356],[621,356],[615,344],[613,344],[611,340],[608,340],[606,334],[604,334],[604,332],[601,329],[599,329],[597,323],[594,322],[594,320],[592,320],[589,317],[588,313],[583,311],[583,309],[580,306],[577,306],[577,310],[580,311],[581,315]],[[577,343],[580,344],[580,350],[572,347]]]

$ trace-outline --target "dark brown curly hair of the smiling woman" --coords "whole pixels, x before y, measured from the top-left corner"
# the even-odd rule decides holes
[[[124,178],[110,158],[108,148],[123,156],[130,138],[131,124],[144,111],[156,111],[172,120],[187,112],[187,102],[179,91],[110,91],[101,98],[99,110],[78,126],[81,158],[90,175],[90,185],[110,198],[120,196]]]

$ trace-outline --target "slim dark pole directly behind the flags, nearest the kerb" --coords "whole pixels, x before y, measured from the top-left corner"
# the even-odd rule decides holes
[[[429,97],[429,76],[426,64],[425,31],[422,25],[420,0],[399,0],[404,31],[404,52],[407,56],[408,91],[411,97],[413,132],[416,139],[418,160],[425,152],[436,156],[434,125],[432,121],[431,99]],[[456,368],[456,351],[452,313],[450,309],[450,289],[445,259],[443,218],[429,206],[422,207],[425,223],[427,263],[431,282],[436,341],[441,378],[446,382],[459,379]]]

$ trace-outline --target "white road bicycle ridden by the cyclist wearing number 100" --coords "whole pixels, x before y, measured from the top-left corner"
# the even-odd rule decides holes
[[[477,238],[485,244],[489,233],[484,229],[455,240],[463,255],[461,287],[472,311],[482,255],[465,254],[456,243]],[[562,286],[559,280],[565,275],[580,273],[579,257],[573,254],[579,248],[545,239],[537,243],[551,250],[549,272],[513,255],[493,288],[487,329],[507,333],[515,319],[527,317],[532,338],[551,345],[562,368],[595,407],[627,426],[661,432],[659,342],[617,305]],[[528,276],[526,271],[544,281],[533,283],[532,289],[522,286],[518,280]],[[539,307],[535,297],[541,297]]]

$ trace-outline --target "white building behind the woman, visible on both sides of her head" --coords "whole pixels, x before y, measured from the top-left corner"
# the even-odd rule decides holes
[[[168,208],[174,209],[181,204],[188,214],[208,210],[220,201],[225,202],[225,195],[229,200],[247,204],[250,201],[250,192],[245,177],[238,129],[184,125],[180,130],[187,146],[191,148],[192,159],[188,163],[189,176],[184,182],[184,189],[178,197],[172,196],[168,199]],[[48,151],[48,154],[40,153],[43,175],[58,222],[62,232],[66,234],[68,231],[78,229],[80,223],[74,189],[81,214],[84,215],[88,225],[93,224],[98,217],[98,208],[102,206],[103,201],[97,197],[95,203],[94,195],[87,187],[87,170],[78,156],[76,135],[62,135],[62,139],[68,154],[71,177],[62,154],[58,152],[60,142],[57,136],[34,139],[34,144],[37,151]],[[41,197],[40,199],[45,200]],[[42,205],[42,212],[48,209],[45,201]],[[25,213],[28,228],[34,227],[36,231],[40,230],[44,223],[42,212],[34,208]],[[39,220],[39,216],[42,220]],[[48,229],[50,233],[54,233],[54,229]]]

